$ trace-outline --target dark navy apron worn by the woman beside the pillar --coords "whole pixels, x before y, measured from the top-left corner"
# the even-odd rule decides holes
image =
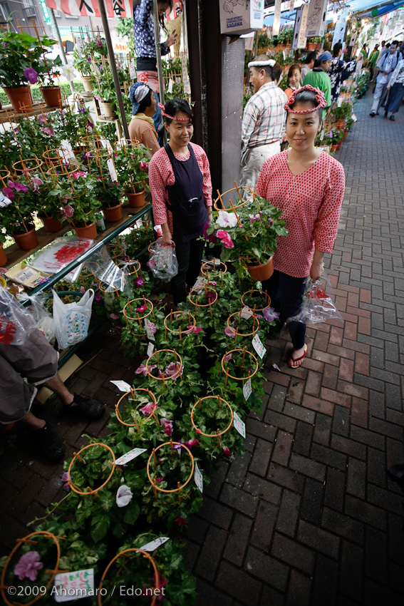
[[[174,172],[174,185],[166,185],[168,210],[172,212],[172,239],[179,244],[190,242],[203,233],[207,222],[207,208],[203,199],[203,177],[192,145],[188,144],[190,158],[177,160],[170,145],[165,151]]]

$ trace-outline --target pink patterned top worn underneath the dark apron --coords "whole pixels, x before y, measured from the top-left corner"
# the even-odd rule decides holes
[[[207,159],[204,150],[202,150],[199,145],[195,145],[195,143],[191,143],[191,145],[203,176],[202,190],[204,203],[209,207],[212,206],[212,181],[210,180],[209,160]],[[184,162],[190,158],[190,153],[188,152],[186,156],[175,154],[175,158]],[[160,148],[150,160],[149,184],[152,192],[155,224],[162,225],[163,223],[168,222],[170,232],[172,232],[172,214],[170,210],[167,209],[168,195],[165,186],[174,185],[174,183],[174,172],[167,152],[164,148]]]

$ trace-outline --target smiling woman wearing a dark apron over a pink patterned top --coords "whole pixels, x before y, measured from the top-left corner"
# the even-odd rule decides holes
[[[190,143],[194,126],[187,101],[160,103],[170,140],[153,155],[149,183],[155,223],[162,227],[162,241],[175,242],[178,274],[171,280],[174,303],[185,301],[186,284],[192,287],[200,274],[205,222],[212,220],[212,182],[204,150]]]

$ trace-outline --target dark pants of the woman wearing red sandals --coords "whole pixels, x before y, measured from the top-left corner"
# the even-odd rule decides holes
[[[281,312],[286,320],[299,314],[305,284],[306,278],[294,278],[274,269],[271,277],[262,282],[262,289],[271,297],[271,307],[276,312]],[[301,349],[304,346],[306,324],[291,322],[288,327],[294,349]]]

